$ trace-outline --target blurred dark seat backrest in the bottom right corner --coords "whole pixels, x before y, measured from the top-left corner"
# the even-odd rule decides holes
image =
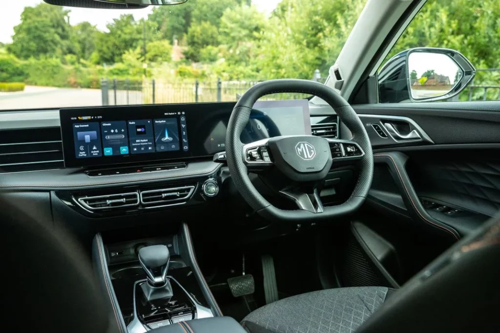
[[[500,221],[492,219],[408,281],[356,333],[500,332]]]

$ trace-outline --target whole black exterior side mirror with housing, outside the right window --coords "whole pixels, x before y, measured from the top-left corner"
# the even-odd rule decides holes
[[[394,55],[380,69],[379,101],[448,99],[463,91],[474,76],[474,66],[458,51],[434,47],[407,49]]]

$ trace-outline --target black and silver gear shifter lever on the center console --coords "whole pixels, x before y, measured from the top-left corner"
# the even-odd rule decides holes
[[[147,282],[140,285],[148,301],[170,299],[172,287],[166,278],[170,253],[164,245],[146,246],[139,250],[139,263],[146,272]]]

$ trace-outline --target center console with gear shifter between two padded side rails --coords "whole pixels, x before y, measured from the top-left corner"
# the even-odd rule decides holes
[[[121,333],[143,333],[221,316],[201,274],[186,224],[164,236],[97,234],[93,261]]]

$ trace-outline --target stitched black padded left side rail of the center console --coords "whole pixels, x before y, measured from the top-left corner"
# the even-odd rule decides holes
[[[102,236],[96,234],[92,240],[92,261],[94,270],[97,278],[100,281],[101,292],[104,295],[104,299],[108,304],[108,309],[111,309],[109,315],[111,317],[111,323],[116,328],[119,333],[126,333],[126,325],[121,315],[120,306],[116,295],[114,294],[114,289],[111,284],[111,277],[109,276],[109,271],[107,270],[107,252],[104,250],[104,244],[102,242]]]

